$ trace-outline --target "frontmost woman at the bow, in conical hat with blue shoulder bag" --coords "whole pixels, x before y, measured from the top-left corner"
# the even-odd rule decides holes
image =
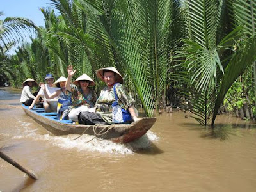
[[[100,96],[95,104],[96,112],[81,112],[79,113],[79,124],[94,125],[94,124],[113,124],[116,122],[115,113],[112,113],[113,106],[118,105],[129,111],[130,120],[137,121],[138,117],[133,108],[132,98],[129,97],[123,86],[123,77],[115,67],[106,67],[97,70],[97,77],[106,83]],[[116,98],[117,97],[117,98]],[[115,120],[114,120],[115,119]],[[128,120],[128,121],[130,121]]]

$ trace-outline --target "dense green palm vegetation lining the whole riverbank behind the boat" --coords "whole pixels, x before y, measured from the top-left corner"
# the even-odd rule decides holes
[[[202,125],[222,111],[255,118],[256,0],[51,0],[41,12],[45,28],[20,23],[37,36],[14,55],[1,20],[0,74],[12,86],[74,65],[99,92],[95,70],[115,66],[147,116],[178,106]]]

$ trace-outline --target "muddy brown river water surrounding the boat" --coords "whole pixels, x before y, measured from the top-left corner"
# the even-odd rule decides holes
[[[137,141],[54,136],[27,116],[20,90],[0,88],[0,147],[38,180],[0,159],[0,191],[255,191],[256,124],[219,115],[205,129],[163,113]]]

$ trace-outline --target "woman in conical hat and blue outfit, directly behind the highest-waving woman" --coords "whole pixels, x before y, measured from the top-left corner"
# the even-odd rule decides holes
[[[59,120],[67,120],[68,119],[68,108],[71,105],[71,95],[69,92],[66,92],[66,81],[67,78],[60,77],[53,84],[54,86],[60,88],[60,90],[56,90],[51,95],[45,90],[45,84],[40,83],[40,87],[44,91],[44,95],[46,99],[53,99],[54,97],[58,97],[58,105],[57,105],[57,118]]]

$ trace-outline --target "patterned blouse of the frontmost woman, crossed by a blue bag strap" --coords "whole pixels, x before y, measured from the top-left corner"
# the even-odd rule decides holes
[[[133,106],[133,99],[129,97],[124,86],[120,83],[116,84],[116,95],[118,97],[118,104],[123,109],[128,109]],[[115,101],[115,93],[113,88],[108,91],[108,87],[104,87],[100,96],[95,103],[96,113],[100,113],[102,119],[108,124],[112,124],[112,103]]]

